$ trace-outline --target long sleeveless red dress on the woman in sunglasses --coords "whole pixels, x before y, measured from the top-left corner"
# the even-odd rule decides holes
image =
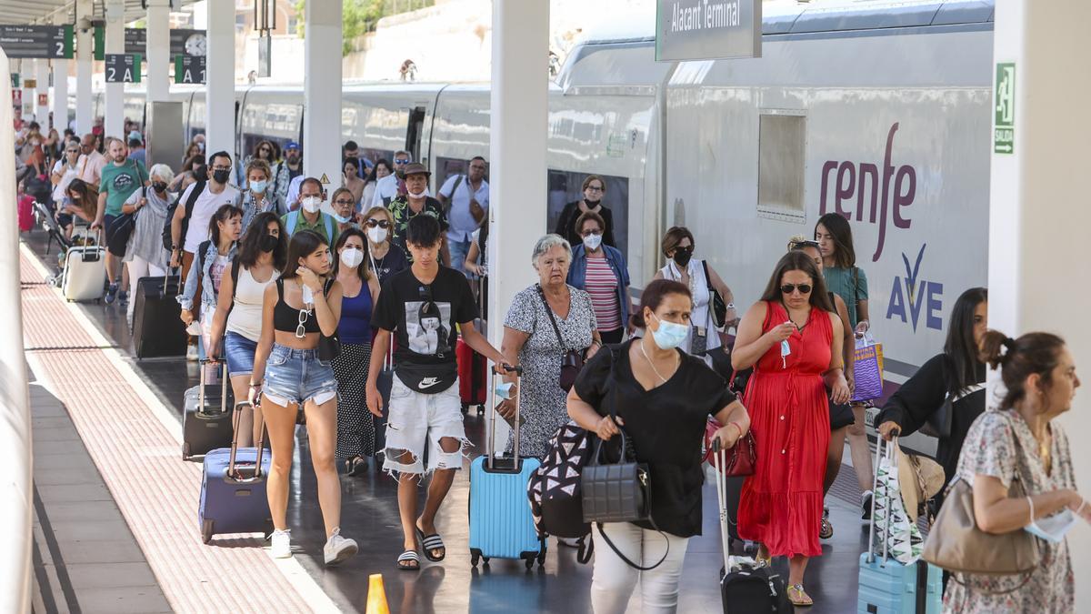
[[[767,303],[763,334],[789,320],[780,303]],[[757,467],[743,484],[739,536],[765,544],[771,556],[818,556],[823,480],[829,448],[829,404],[823,374],[829,369],[830,314],[812,308],[802,331],[754,366],[743,395],[757,441]]]

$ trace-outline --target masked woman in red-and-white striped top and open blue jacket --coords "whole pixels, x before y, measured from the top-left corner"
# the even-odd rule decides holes
[[[601,215],[588,211],[576,222],[582,243],[572,249],[568,283],[591,296],[603,343],[621,343],[628,322],[628,267],[616,248],[603,243]]]

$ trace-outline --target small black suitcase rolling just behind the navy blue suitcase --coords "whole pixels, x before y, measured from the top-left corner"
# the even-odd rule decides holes
[[[216,448],[229,448],[232,439],[230,389],[227,386],[227,362],[219,386],[205,385],[205,365],[201,362],[201,383],[185,391],[185,414],[182,416],[182,460],[201,457]]]

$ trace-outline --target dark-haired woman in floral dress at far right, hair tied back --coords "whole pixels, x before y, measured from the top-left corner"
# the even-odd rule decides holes
[[[973,486],[978,528],[992,534],[1031,533],[1041,563],[1029,579],[960,574],[947,583],[944,612],[1075,612],[1066,534],[1080,518],[1091,522],[1091,504],[1076,492],[1068,436],[1054,418],[1072,406],[1080,386],[1076,364],[1064,340],[1045,332],[1011,339],[987,331],[981,358],[1000,370],[1005,395],[970,427],[957,477]],[[1027,496],[1010,496],[1017,480]]]

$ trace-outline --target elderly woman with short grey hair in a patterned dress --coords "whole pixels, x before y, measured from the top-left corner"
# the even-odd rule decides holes
[[[501,353],[512,365],[523,366],[519,453],[546,456],[549,438],[568,422],[561,388],[561,364],[568,351],[586,351],[587,358],[602,347],[591,296],[568,285],[572,247],[560,235],[538,239],[530,259],[538,283],[515,295],[504,320]],[[555,324],[555,326],[554,326]],[[509,378],[508,378],[509,379]],[[514,389],[509,394],[515,397]],[[515,414],[512,401],[504,401],[500,414]]]

